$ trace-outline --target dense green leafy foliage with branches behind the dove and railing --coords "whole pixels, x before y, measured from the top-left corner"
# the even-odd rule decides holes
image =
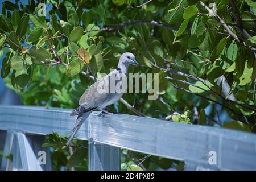
[[[94,77],[117,67],[123,52],[133,52],[143,66],[129,72],[160,75],[157,100],[147,100],[144,93],[123,95],[137,111],[183,123],[224,122],[224,127],[255,133],[255,2],[154,0],[139,6],[144,2],[53,0],[47,1],[46,17],[39,16],[42,9],[33,0],[3,2],[1,77],[24,105],[75,108]],[[133,114],[122,103],[109,109]],[[220,110],[228,117],[221,120]],[[81,147],[74,153],[79,157],[69,157],[61,148],[64,138],[54,135],[48,146],[56,150],[55,169],[68,159],[73,161],[69,167],[87,163]],[[134,157],[122,160],[125,169],[135,164]],[[150,157],[143,165],[155,169],[162,160],[167,161]],[[179,162],[167,163],[182,169]]]

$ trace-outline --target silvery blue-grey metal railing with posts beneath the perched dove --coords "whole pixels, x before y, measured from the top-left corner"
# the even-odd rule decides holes
[[[70,111],[0,106],[1,169],[51,170],[49,151],[41,147],[44,135],[68,135],[76,120]],[[256,135],[242,131],[94,111],[76,137],[89,141],[90,170],[119,170],[120,148],[184,160],[190,170],[256,170]],[[40,150],[46,151],[46,165],[38,163]]]

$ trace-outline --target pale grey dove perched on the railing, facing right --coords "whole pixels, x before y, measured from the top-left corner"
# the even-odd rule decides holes
[[[115,88],[114,92],[112,92],[112,89],[119,82],[123,81],[123,79],[118,79],[122,75],[125,75],[127,78],[128,67],[130,64],[139,65],[139,63],[135,60],[135,56],[133,55],[133,53],[123,53],[119,59],[117,69],[110,72],[108,75],[101,78],[100,80],[94,82],[94,84],[92,84],[87,90],[85,90],[84,94],[82,94],[79,100],[80,106],[77,109],[73,110],[70,114],[70,116],[77,115],[77,119],[75,126],[73,127],[73,130],[67,140],[67,146],[71,143],[77,130],[79,130],[82,123],[84,123],[84,121],[89,117],[90,113],[92,113],[93,110],[99,109],[104,113],[112,114],[105,108],[106,106],[113,104],[115,101],[118,101],[122,97],[123,92],[116,92]],[[115,79],[113,82],[114,85],[112,84],[113,78]]]

